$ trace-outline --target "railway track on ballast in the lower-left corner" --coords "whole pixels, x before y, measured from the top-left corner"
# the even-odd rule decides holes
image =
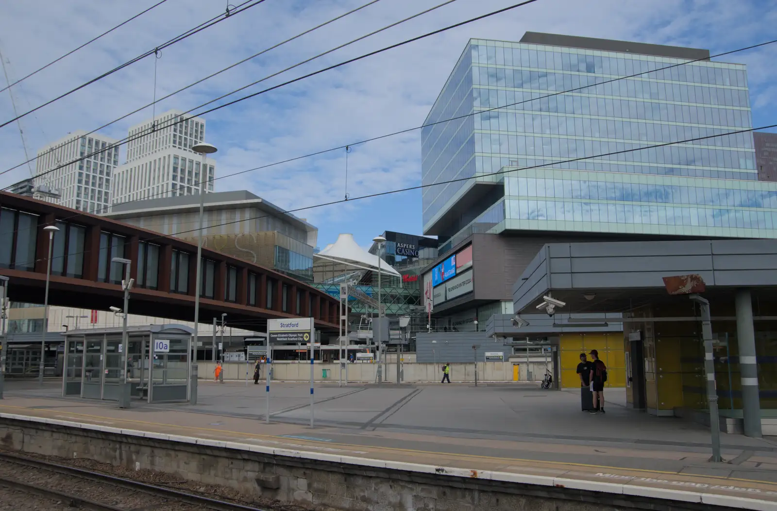
[[[2,471],[0,474],[0,486],[24,493],[39,495],[45,499],[61,501],[65,506],[77,509],[94,509],[95,511],[131,511],[133,509],[180,509],[181,511],[200,511],[200,509],[216,509],[219,511],[267,511],[252,506],[244,506],[235,502],[211,499],[202,495],[182,492],[174,488],[150,485],[141,481],[133,481],[127,478],[119,478],[113,475],[89,471],[83,468],[70,467],[51,461],[26,457],[19,454],[0,452],[0,463],[14,464],[19,467],[12,474]],[[30,481],[36,471],[48,471],[64,476],[64,480],[57,478],[41,478]],[[71,478],[68,484],[67,478]],[[27,479],[27,480],[25,480]],[[78,481],[89,481],[85,484],[75,484]],[[68,491],[63,491],[57,486],[65,486]],[[81,491],[75,491],[71,487],[82,486]],[[106,492],[106,488],[120,488],[117,492]],[[92,495],[102,495],[103,499],[95,499]],[[108,497],[108,499],[106,499]],[[116,506],[105,502],[110,499],[124,499],[126,504]],[[100,502],[102,500],[103,502]]]

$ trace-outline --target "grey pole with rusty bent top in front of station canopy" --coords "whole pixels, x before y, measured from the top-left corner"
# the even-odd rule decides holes
[[[680,276],[665,276],[664,287],[671,295],[688,294],[699,304],[702,315],[702,341],[704,342],[704,372],[707,380],[707,401],[709,403],[709,433],[712,436],[713,457],[710,461],[722,461],[720,457],[720,419],[718,416],[718,391],[715,382],[715,361],[713,359],[713,323],[709,315],[709,301],[699,295],[706,290],[702,276],[695,273]]]

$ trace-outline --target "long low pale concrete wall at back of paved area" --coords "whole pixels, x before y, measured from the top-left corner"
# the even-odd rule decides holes
[[[394,359],[395,360],[395,359]],[[213,379],[215,364],[213,362],[198,362],[200,380]],[[245,362],[225,362],[224,379],[242,381],[246,379]],[[403,383],[432,383],[442,380],[443,363],[402,363]],[[253,378],[253,364],[249,367],[249,380]],[[376,363],[348,363],[348,381],[354,383],[371,383],[375,381],[378,368]],[[262,377],[266,367],[262,367]],[[326,378],[323,377],[326,370]],[[451,363],[452,383],[472,383],[475,381],[475,363]],[[314,378],[319,383],[336,382],[340,377],[340,364],[315,363]],[[343,380],[345,370],[343,370]],[[308,362],[276,362],[273,363],[274,381],[310,381],[310,363]],[[396,381],[396,363],[386,363],[383,380]],[[525,380],[521,372],[521,380]],[[513,381],[513,363],[511,362],[478,362],[478,381]]]

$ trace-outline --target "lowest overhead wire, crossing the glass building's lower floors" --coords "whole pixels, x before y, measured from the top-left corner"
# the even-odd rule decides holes
[[[479,174],[478,177],[479,178],[483,178],[483,177],[489,177],[489,176],[500,176],[500,175],[507,174],[507,173],[510,173],[510,172],[521,172],[521,171],[524,171],[524,170],[542,169],[542,168],[545,168],[545,167],[552,167],[553,165],[563,165],[563,164],[566,164],[566,163],[582,162],[582,161],[585,161],[585,160],[591,160],[591,159],[595,159],[595,158],[605,158],[606,156],[623,155],[623,154],[630,153],[630,152],[635,152],[635,151],[644,151],[646,149],[663,148],[663,147],[667,147],[667,146],[671,146],[671,145],[676,145],[676,144],[688,144],[690,142],[701,141],[701,140],[708,140],[710,138],[727,137],[729,135],[735,135],[735,134],[740,134],[740,133],[751,133],[752,131],[755,131],[755,130],[768,130],[768,129],[774,128],[774,127],[777,127],[777,123],[775,123],[775,124],[768,124],[766,126],[746,128],[744,130],[734,130],[734,131],[727,131],[726,133],[706,135],[705,137],[693,137],[693,138],[687,138],[687,139],[681,140],[681,141],[663,142],[663,143],[660,143],[660,144],[650,144],[650,145],[644,145],[644,146],[639,147],[639,148],[623,149],[621,151],[610,151],[610,152],[601,153],[601,154],[598,154],[598,155],[579,156],[577,158],[567,158],[567,159],[559,160],[559,161],[556,161],[556,162],[540,163],[540,164],[537,164],[537,165],[528,165],[526,167],[520,167],[520,168],[517,167],[517,166],[516,167],[510,167],[507,170],[498,170],[498,171],[495,171],[495,172],[484,172],[483,174]],[[578,172],[589,172],[589,171],[578,170]],[[594,171],[591,171],[591,172],[594,172]],[[628,172],[614,172],[614,173],[628,174]],[[259,215],[259,216],[256,216],[256,217],[248,217],[248,218],[241,218],[239,220],[221,222],[220,224],[213,224],[211,226],[208,226],[208,228],[224,227],[226,225],[239,224],[240,222],[245,222],[245,221],[260,220],[262,218],[267,218],[267,217],[279,217],[280,215],[298,213],[299,211],[312,210],[312,209],[315,209],[315,208],[318,208],[318,207],[333,206],[335,204],[346,203],[346,202],[350,203],[350,202],[353,202],[354,200],[374,199],[374,198],[380,197],[380,196],[388,196],[388,195],[393,195],[395,193],[405,193],[405,192],[413,191],[413,190],[416,190],[416,189],[429,188],[430,186],[440,186],[440,185],[446,185],[446,184],[450,184],[450,183],[460,183],[462,181],[469,181],[470,179],[475,179],[475,177],[474,176],[469,176],[469,177],[462,177],[462,178],[456,178],[456,179],[446,179],[446,180],[440,181],[438,183],[427,183],[427,184],[423,184],[422,183],[422,184],[416,185],[416,186],[406,186],[405,188],[386,190],[386,191],[383,191],[383,192],[376,192],[376,193],[368,193],[366,195],[361,195],[361,196],[353,197],[353,198],[350,198],[350,199],[331,200],[331,201],[326,202],[326,203],[318,203],[318,204],[313,204],[311,206],[303,206],[303,207],[297,207],[297,208],[293,208],[293,209],[289,209],[289,210],[281,210],[281,211],[277,211],[275,213],[262,214],[262,215]],[[199,231],[199,228],[187,229],[186,231],[172,232],[172,233],[167,234],[167,235],[161,235],[160,234],[158,236],[152,236],[150,238],[143,238],[141,241],[143,241],[143,242],[152,242],[152,241],[157,240],[157,239],[175,238],[176,236],[179,236],[179,235],[185,235],[185,234],[188,234],[190,232],[197,232],[197,231]],[[5,233],[3,233],[3,234],[5,234]],[[85,254],[85,253],[88,253],[88,252],[89,252],[89,250],[84,250],[82,252],[68,253],[68,256],[69,255]],[[57,257],[52,258],[52,259],[57,259],[59,257],[64,257],[64,255],[57,255]],[[16,264],[24,265],[24,266],[31,266],[35,262],[44,261],[44,260],[45,259],[43,259],[43,258],[41,258],[41,259],[33,259],[33,261],[30,261],[30,262],[23,262],[23,263],[16,263]]]

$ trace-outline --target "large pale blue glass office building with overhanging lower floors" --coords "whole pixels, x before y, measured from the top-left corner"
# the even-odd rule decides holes
[[[751,133],[645,148],[752,127],[745,66],[684,64],[708,58],[541,33],[470,40],[422,132],[423,184],[441,183],[423,189],[424,234],[441,255],[476,232],[777,238],[777,183],[758,181]]]

